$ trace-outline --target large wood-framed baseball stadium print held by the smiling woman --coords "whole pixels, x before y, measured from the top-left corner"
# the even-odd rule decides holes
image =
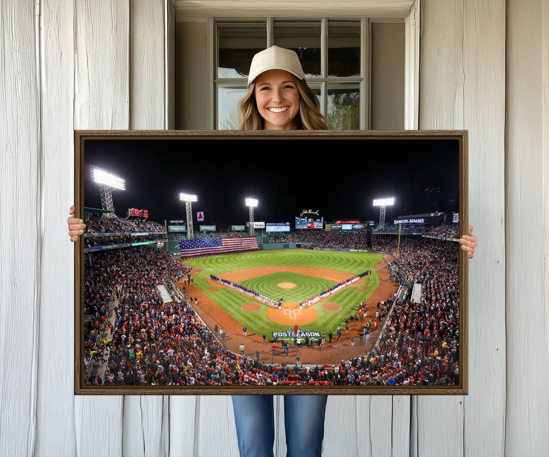
[[[77,394],[467,394],[467,131],[75,131]]]

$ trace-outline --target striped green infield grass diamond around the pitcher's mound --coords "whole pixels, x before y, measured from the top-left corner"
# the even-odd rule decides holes
[[[293,283],[293,289],[278,287],[280,283]],[[247,279],[240,282],[244,287],[260,291],[262,294],[278,300],[300,302],[322,290],[332,287],[335,282],[323,278],[305,276],[304,274],[282,271],[280,273],[266,274],[258,278]]]

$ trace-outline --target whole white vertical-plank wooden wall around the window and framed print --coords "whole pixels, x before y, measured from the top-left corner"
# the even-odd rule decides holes
[[[323,455],[547,455],[549,2],[421,5],[419,128],[469,130],[469,395],[330,397]],[[73,394],[72,131],[169,125],[170,21],[169,0],[0,3],[2,456],[238,455],[229,397]]]

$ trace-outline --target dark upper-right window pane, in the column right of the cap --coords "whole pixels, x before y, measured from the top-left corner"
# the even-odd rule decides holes
[[[328,21],[328,76],[360,76],[360,21]]]

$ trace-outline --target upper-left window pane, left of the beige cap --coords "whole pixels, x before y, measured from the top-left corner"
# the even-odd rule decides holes
[[[217,24],[217,78],[247,78],[251,59],[267,47],[267,24]]]

